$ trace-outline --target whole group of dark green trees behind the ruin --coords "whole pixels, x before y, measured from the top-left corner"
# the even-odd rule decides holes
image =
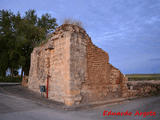
[[[0,10],[0,76],[6,71],[14,74],[21,69],[21,77],[29,74],[30,54],[57,27],[50,14],[38,17],[35,10],[20,12]]]

